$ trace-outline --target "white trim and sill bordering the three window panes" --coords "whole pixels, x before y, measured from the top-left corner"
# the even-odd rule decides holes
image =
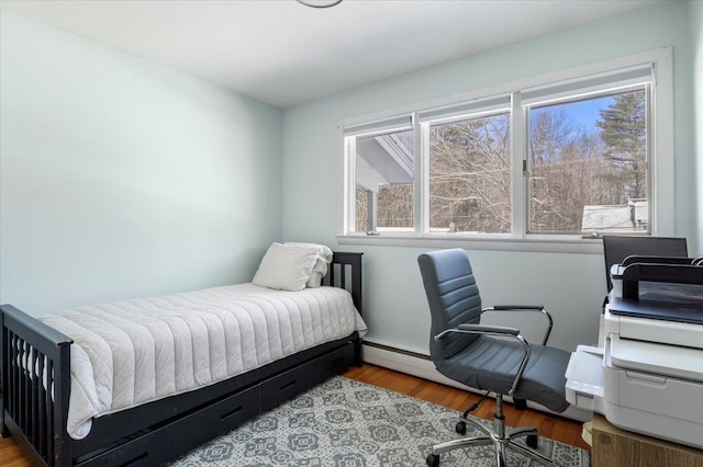
[[[652,89],[655,90],[655,99],[651,100],[651,121],[657,128],[656,134],[651,134],[651,151],[654,153],[654,164],[651,167],[650,182],[650,203],[651,208],[651,235],[671,237],[674,235],[674,189],[673,189],[673,66],[672,49],[670,46],[656,48],[648,52],[628,55],[598,61],[594,64],[583,65],[556,71],[538,77],[522,79],[509,83],[498,84],[481,90],[475,90],[466,93],[449,95],[446,98],[435,99],[414,104],[409,104],[392,110],[378,112],[373,114],[362,115],[339,122],[338,135],[339,141],[344,141],[344,128],[375,121],[384,121],[399,115],[422,114],[442,106],[451,107],[459,102],[471,100],[483,100],[487,96],[499,94],[511,94],[512,105],[512,128],[525,128],[525,125],[514,125],[515,118],[524,118],[521,103],[514,91],[527,88],[537,88],[540,86],[549,86],[560,81],[578,79],[589,75],[606,73],[612,70],[627,67],[637,67],[644,65],[652,65]],[[413,118],[415,130],[423,125],[420,118]],[[416,133],[419,134],[419,133]],[[520,167],[525,155],[525,135],[514,135],[512,138],[513,163]],[[421,150],[421,138],[415,138],[415,153],[427,155],[428,151]],[[338,147],[345,152],[345,145]],[[670,155],[670,156],[669,156]],[[513,170],[512,173],[512,203],[513,210],[517,212],[513,215],[512,235],[490,235],[476,236],[470,238],[457,236],[426,234],[428,231],[428,206],[422,206],[420,203],[421,190],[428,190],[428,181],[422,180],[426,174],[426,160],[423,157],[416,157],[415,168],[415,185],[421,190],[415,190],[415,223],[414,231],[409,232],[383,232],[379,236],[367,236],[362,232],[352,232],[347,230],[349,216],[349,193],[350,183],[354,181],[354,161],[346,152],[342,155],[344,164],[343,173],[337,176],[343,178],[344,183],[339,186],[338,206],[337,206],[337,241],[341,244],[369,244],[369,246],[398,246],[398,247],[425,247],[425,248],[451,248],[462,247],[467,249],[488,249],[488,250],[507,250],[507,251],[554,251],[554,252],[574,252],[574,253],[601,253],[602,243],[600,239],[581,238],[574,235],[526,235],[526,209],[527,200],[525,196],[525,180],[522,171]],[[337,179],[338,180],[338,179]],[[427,193],[423,193],[424,200],[427,200]],[[423,231],[425,234],[423,234]]]

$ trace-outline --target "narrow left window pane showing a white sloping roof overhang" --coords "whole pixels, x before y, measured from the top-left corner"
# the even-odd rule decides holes
[[[412,130],[356,137],[355,231],[412,230]]]

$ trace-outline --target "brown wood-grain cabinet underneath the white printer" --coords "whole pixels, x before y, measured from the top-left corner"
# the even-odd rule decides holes
[[[593,414],[592,467],[703,467],[703,451],[613,426]]]

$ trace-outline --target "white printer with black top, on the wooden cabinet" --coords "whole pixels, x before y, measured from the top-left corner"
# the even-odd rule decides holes
[[[703,448],[703,262],[631,257],[612,281],[599,346],[571,355],[567,399],[624,430]]]

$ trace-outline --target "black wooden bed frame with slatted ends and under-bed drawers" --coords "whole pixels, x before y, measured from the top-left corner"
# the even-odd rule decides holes
[[[335,252],[323,281],[349,291],[359,312],[361,254]],[[100,417],[86,438],[74,440],[66,431],[71,340],[11,305],[0,311],[0,428],[36,465],[161,465],[361,363],[355,331],[214,385]]]

